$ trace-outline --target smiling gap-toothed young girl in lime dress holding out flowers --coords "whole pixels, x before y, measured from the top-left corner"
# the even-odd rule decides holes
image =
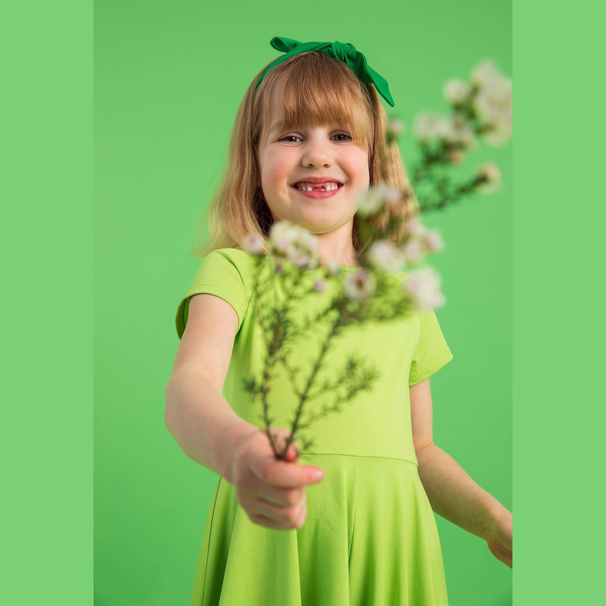
[[[331,404],[321,386],[338,382],[348,356],[380,376],[310,425],[313,447],[299,458],[292,446],[287,461],[275,458],[259,429],[261,405],[244,388],[242,379],[261,378],[267,351],[255,288],[273,271],[271,225],[302,225],[318,237],[321,260],[357,271],[356,198],[378,184],[388,124],[379,92],[393,105],[387,82],[350,44],[271,45],[287,55],[255,76],[239,107],[210,205],[210,244],[197,250],[204,259],[176,315],[181,343],[165,420],[185,453],[220,476],[191,606],[445,606],[433,511],[485,539],[510,566],[511,513],[433,444],[429,377],[453,358],[434,311],[353,325],[331,339],[306,413]],[[410,191],[395,143],[387,164],[388,185]],[[326,193],[310,191],[318,187]],[[413,192],[391,211],[403,222],[418,217]],[[244,247],[250,233],[266,245],[261,270]],[[409,276],[390,275],[399,286]],[[333,294],[314,293],[291,317],[321,309]],[[271,427],[282,444],[325,328],[299,339],[288,368],[278,365],[271,377]],[[295,367],[298,385],[288,372]]]

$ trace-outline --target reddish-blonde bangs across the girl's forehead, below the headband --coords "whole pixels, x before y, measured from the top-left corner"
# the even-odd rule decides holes
[[[258,93],[267,125],[263,143],[274,126],[269,124],[271,102],[279,101],[280,131],[335,125],[347,130],[357,145],[370,151],[374,130],[370,95],[344,62],[318,52],[296,55],[270,70]]]

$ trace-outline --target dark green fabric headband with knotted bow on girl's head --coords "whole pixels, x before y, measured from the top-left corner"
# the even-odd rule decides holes
[[[267,69],[261,74],[256,88],[261,84],[262,79],[265,77],[265,74],[269,72],[272,67],[276,67],[282,61],[286,59],[290,59],[295,55],[299,55],[300,53],[306,53],[310,50],[319,50],[327,57],[331,57],[333,59],[339,59],[339,61],[345,61],[349,67],[358,75],[359,79],[365,84],[368,82],[372,82],[379,94],[388,104],[393,107],[393,99],[391,98],[391,93],[389,92],[389,87],[387,85],[387,81],[384,78],[381,78],[378,73],[373,70],[373,68],[368,67],[366,62],[366,58],[362,55],[359,50],[356,50],[356,47],[349,42],[299,42],[298,40],[293,40],[291,38],[280,38],[279,36],[274,36],[271,38],[270,42],[271,46],[273,46],[276,50],[281,50],[283,53],[286,53],[283,57],[279,57],[274,61],[271,65],[267,67]]]

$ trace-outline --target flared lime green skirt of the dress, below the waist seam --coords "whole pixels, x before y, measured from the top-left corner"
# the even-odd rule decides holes
[[[438,528],[417,465],[302,453],[324,470],[301,528],[252,522],[219,478],[191,606],[447,606]]]

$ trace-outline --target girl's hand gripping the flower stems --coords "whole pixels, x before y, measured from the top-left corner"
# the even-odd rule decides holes
[[[271,428],[276,450],[281,452],[290,431]],[[251,522],[267,528],[301,528],[307,516],[308,484],[321,481],[313,465],[294,465],[296,440],[287,451],[287,461],[276,459],[267,435],[261,430],[245,433],[233,450],[231,478],[236,496]]]

